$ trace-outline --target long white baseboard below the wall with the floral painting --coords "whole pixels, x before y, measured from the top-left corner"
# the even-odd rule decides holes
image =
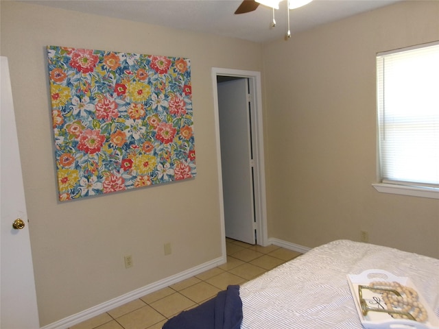
[[[202,265],[198,265],[191,269],[187,269],[186,271],[177,273],[174,276],[169,276],[168,278],[165,278],[163,280],[159,280],[152,284],[147,284],[145,287],[141,287],[139,289],[131,291],[130,293],[126,293],[119,297],[113,298],[112,300],[108,300],[108,302],[104,302],[97,306],[88,308],[87,310],[83,310],[80,313],[76,313],[64,319],[60,319],[59,321],[48,324],[47,326],[44,326],[40,329],[67,329],[71,326],[74,326],[75,324],[80,324],[81,322],[91,319],[92,317],[105,313],[108,310],[112,310],[113,308],[116,308],[128,302],[137,300],[138,298],[143,297],[148,293],[154,293],[154,291],[158,291],[160,289],[168,287],[171,284],[175,284],[187,278],[191,278],[192,276],[196,276],[197,274],[207,271],[209,269],[213,269],[213,267],[222,265],[226,263],[226,261],[226,256],[215,258]]]

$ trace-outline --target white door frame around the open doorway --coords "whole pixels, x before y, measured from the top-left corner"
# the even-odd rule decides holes
[[[217,76],[224,75],[230,77],[246,77],[250,79],[250,88],[252,88],[252,95],[254,95],[254,103],[252,103],[252,114],[254,117],[254,203],[256,210],[256,230],[257,230],[257,244],[267,245],[267,209],[265,197],[265,165],[263,153],[263,125],[262,125],[262,96],[261,96],[261,73],[257,71],[243,71],[235,69],[222,69],[218,67],[212,68],[212,83],[213,83],[213,106],[215,110],[215,138],[217,148],[217,171],[218,171],[218,186],[219,186],[219,215],[221,217],[222,236],[225,236],[224,223],[224,199],[222,188],[222,166],[221,166],[221,145],[219,142],[219,108],[218,108],[218,92],[217,92]],[[223,256],[226,256],[226,241],[222,242]]]

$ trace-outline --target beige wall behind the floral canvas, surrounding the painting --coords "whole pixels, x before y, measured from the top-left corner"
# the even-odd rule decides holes
[[[196,178],[58,203],[47,45],[190,58]],[[10,63],[42,326],[222,256],[211,69],[261,71],[260,45],[1,1],[1,56]],[[173,253],[164,256],[167,242]]]

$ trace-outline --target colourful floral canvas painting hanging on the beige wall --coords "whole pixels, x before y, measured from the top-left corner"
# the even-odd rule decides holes
[[[60,201],[193,178],[187,58],[47,47]]]

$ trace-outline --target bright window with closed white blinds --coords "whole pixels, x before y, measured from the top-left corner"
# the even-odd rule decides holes
[[[381,183],[439,199],[439,42],[377,54],[377,106]]]

